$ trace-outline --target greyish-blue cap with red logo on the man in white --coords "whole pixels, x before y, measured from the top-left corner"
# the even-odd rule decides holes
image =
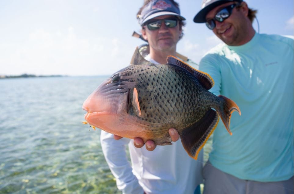
[[[169,0],[152,0],[142,9],[141,15],[137,15],[137,19],[139,24],[143,26],[148,20],[164,15],[174,15],[180,20],[185,20],[180,15],[180,9]]]

